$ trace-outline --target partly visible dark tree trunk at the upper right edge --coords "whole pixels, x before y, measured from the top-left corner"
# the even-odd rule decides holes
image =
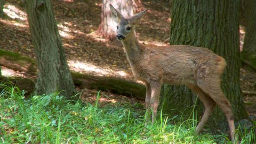
[[[242,15],[245,18],[245,37],[243,51],[249,54],[256,54],[256,1],[243,1]]]

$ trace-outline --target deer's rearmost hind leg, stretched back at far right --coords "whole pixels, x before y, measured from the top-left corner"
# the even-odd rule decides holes
[[[198,86],[207,93],[221,108],[223,113],[226,115],[231,139],[235,139],[235,124],[234,124],[234,116],[232,113],[231,105],[228,99],[223,94],[221,87],[220,87],[220,78],[210,77],[201,79],[201,81],[197,81]]]

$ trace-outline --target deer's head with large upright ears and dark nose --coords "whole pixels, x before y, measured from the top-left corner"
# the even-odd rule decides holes
[[[132,31],[134,31],[135,23],[137,23],[140,20],[141,16],[148,10],[146,9],[142,12],[139,12],[130,18],[124,18],[124,16],[120,12],[118,12],[113,5],[110,4],[109,7],[112,18],[116,23],[118,23],[116,27],[116,38],[118,41],[125,39],[126,36],[128,36]]]

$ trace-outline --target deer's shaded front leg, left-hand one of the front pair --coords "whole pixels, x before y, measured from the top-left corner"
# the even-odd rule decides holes
[[[146,123],[145,123],[145,126],[147,125],[147,122],[150,121],[150,114],[151,114],[150,98],[151,98],[151,87],[150,87],[149,83],[146,83],[146,99],[145,99],[145,103],[146,103]]]

